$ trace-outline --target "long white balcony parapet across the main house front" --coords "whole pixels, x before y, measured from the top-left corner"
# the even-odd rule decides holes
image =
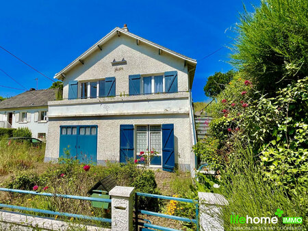
[[[190,92],[50,101],[49,118],[189,113]]]

